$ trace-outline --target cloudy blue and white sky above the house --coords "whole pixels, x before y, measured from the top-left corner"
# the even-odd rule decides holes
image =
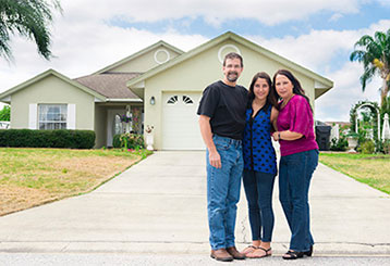
[[[63,13],[56,12],[51,26],[54,58],[46,61],[33,41],[14,36],[13,61],[0,58],[0,92],[48,68],[76,78],[159,40],[188,51],[230,30],[334,83],[316,100],[318,121],[346,122],[357,101],[380,101],[381,80],[362,92],[363,65],[350,54],[363,35],[390,28],[390,0],[60,2]]]

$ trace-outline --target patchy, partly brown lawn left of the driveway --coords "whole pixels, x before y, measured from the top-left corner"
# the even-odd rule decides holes
[[[0,148],[0,216],[89,192],[150,152]]]

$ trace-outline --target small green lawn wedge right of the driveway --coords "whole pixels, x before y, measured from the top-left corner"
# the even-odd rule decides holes
[[[320,153],[319,161],[338,172],[390,194],[390,155]]]

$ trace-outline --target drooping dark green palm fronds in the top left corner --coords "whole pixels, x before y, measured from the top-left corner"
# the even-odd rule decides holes
[[[10,38],[19,34],[34,40],[38,53],[49,60],[53,9],[62,12],[59,0],[0,0],[0,56],[12,59]]]

